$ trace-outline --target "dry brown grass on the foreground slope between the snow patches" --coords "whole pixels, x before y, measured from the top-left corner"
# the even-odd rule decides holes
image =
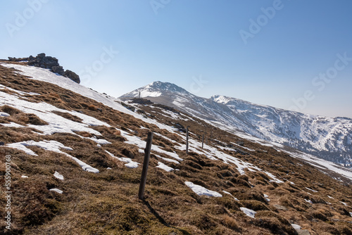
[[[81,139],[74,134],[41,136],[28,128],[0,126],[0,141],[6,144],[31,139],[56,140],[73,148],[73,151],[65,151],[66,153],[100,170],[99,174],[84,172],[67,156],[42,148],[30,147],[38,154],[31,156],[12,148],[1,147],[1,156],[13,155],[13,185],[16,188],[13,194],[16,201],[13,209],[14,230],[18,233],[294,234],[289,224],[296,223],[316,234],[351,234],[352,219],[349,216],[349,212],[352,211],[349,206],[352,205],[351,186],[341,185],[309,165],[297,167],[298,160],[286,153],[251,143],[217,128],[213,129],[213,139],[208,139],[208,144],[218,145],[215,139],[227,144],[241,141],[243,146],[257,151],[251,152],[251,155],[234,152],[228,154],[253,163],[295,184],[269,182],[268,176],[262,172],[246,171],[247,175],[241,175],[236,167],[220,160],[209,160],[206,155],[196,153],[185,155],[175,148],[177,144],[155,135],[154,144],[164,146],[163,148],[168,151],[175,151],[184,158],[184,161],[180,165],[164,161],[165,164],[179,169],[164,172],[156,168],[161,159],[152,154],[146,184],[146,201],[139,201],[137,192],[142,167],[129,169],[125,167],[125,163],[112,158],[105,150],[118,157],[133,158],[138,163],[142,163],[144,155],[139,153],[136,146],[125,144],[126,139],[115,127],[142,139],[146,138],[147,132],[153,131],[184,144],[180,136],[53,84],[14,75],[11,69],[0,66],[0,75],[0,84],[20,91],[30,90],[41,94],[26,96],[30,101],[44,101],[58,108],[76,110],[112,126],[93,127],[102,134],[101,138],[112,143],[101,148],[97,147],[94,141]],[[95,108],[91,110],[87,104]],[[98,108],[101,111],[96,112]],[[151,110],[149,106],[144,108],[146,114]],[[11,114],[10,117],[1,118],[0,122],[16,122],[22,125],[30,122],[37,125],[41,123],[36,117],[9,106],[0,107],[0,110]],[[81,121],[74,115],[56,114],[76,122]],[[155,118],[161,120],[162,117],[156,114]],[[164,118],[161,122],[168,125],[175,124],[175,120],[172,119]],[[194,132],[192,136],[195,138],[199,133],[194,130],[205,131],[204,127],[208,125],[196,119],[194,122],[180,122],[184,126],[190,126]],[[92,137],[92,134],[87,132],[77,134]],[[168,155],[160,155],[170,158]],[[0,166],[4,166],[4,158],[0,158]],[[112,169],[107,170],[107,167]],[[0,167],[0,171],[4,174],[4,167]],[[54,178],[55,171],[63,174],[65,180]],[[22,179],[20,177],[22,174],[29,178]],[[1,180],[0,183],[3,184],[4,178]],[[184,184],[185,181],[220,193],[222,190],[229,191],[240,201],[234,201],[232,196],[225,193],[222,193],[222,198],[198,196]],[[64,193],[61,195],[49,191],[53,187],[63,190]],[[310,195],[305,187],[315,189],[319,193]],[[263,198],[263,193],[269,195],[271,200],[269,203]],[[329,199],[327,195],[336,199]],[[313,204],[306,203],[305,198],[313,201]],[[325,201],[332,204],[326,204]],[[346,202],[348,206],[342,205],[339,201]],[[0,197],[0,203],[1,205],[4,203],[3,195]],[[277,210],[274,205],[284,205],[288,210]],[[244,215],[239,210],[242,206],[256,210],[256,219]],[[4,228],[2,216],[0,215],[1,229]]]

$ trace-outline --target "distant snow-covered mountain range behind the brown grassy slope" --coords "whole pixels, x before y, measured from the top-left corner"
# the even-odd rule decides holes
[[[153,82],[120,98],[131,99],[139,94],[233,133],[244,132],[345,166],[350,166],[352,161],[352,120],[349,118],[308,115],[227,96],[205,99],[168,82]]]

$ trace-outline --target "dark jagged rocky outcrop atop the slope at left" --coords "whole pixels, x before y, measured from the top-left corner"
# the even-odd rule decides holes
[[[64,70],[63,66],[60,66],[58,59],[52,56],[46,56],[45,53],[40,53],[36,57],[30,56],[27,58],[15,58],[8,57],[8,61],[13,62],[27,62],[28,65],[39,67],[39,68],[49,68],[51,72],[55,72],[58,75],[68,77],[73,82],[80,83],[80,76],[71,70]]]

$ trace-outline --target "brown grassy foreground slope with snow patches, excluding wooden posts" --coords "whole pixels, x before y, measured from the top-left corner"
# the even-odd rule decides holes
[[[352,233],[350,181],[337,172],[344,184],[168,107],[122,103],[48,70],[4,66],[0,172],[10,159],[12,191],[11,230],[0,215],[4,234]],[[190,129],[189,155],[181,125]],[[213,134],[202,148],[206,125]],[[2,208],[5,196],[1,190]]]

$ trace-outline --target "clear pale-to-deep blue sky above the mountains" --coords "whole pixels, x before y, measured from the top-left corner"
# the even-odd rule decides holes
[[[153,81],[352,118],[352,1],[2,1],[0,58],[46,53],[121,96]]]

